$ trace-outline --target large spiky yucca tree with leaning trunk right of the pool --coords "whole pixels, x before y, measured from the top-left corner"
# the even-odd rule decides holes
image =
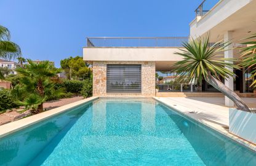
[[[178,81],[181,82],[194,81],[201,83],[204,79],[234,101],[238,109],[250,112],[244,101],[220,81],[220,77],[233,77],[233,68],[238,69],[238,66],[233,65],[233,61],[235,61],[233,58],[218,58],[218,56],[215,56],[225,51],[228,43],[219,45],[222,42],[220,41],[209,46],[209,38],[208,35],[206,38],[191,39],[190,42],[184,43],[183,47],[185,49],[180,49],[182,52],[176,52],[177,55],[183,57],[183,60],[175,63],[176,68],[173,72],[180,76]]]

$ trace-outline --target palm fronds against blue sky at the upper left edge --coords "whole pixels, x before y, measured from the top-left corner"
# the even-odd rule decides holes
[[[14,42],[10,41],[10,31],[0,25],[0,58],[10,60],[21,55],[20,47]],[[0,79],[4,79],[0,73]]]

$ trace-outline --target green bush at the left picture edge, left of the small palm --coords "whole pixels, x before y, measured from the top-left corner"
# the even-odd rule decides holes
[[[6,111],[6,109],[15,108],[17,105],[14,103],[14,97],[11,90],[0,90],[0,112]]]

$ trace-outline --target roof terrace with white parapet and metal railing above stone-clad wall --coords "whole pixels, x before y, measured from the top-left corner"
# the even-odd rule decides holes
[[[157,71],[170,71],[183,57],[182,45],[188,37],[90,37],[83,48],[84,60],[93,61],[154,61]],[[234,47],[241,44],[234,43]]]

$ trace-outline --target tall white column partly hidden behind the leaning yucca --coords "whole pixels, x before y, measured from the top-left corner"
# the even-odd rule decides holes
[[[232,32],[231,31],[226,31],[224,34],[224,42],[231,42],[232,39]],[[226,48],[226,51],[224,52],[224,58],[233,58],[233,43],[228,45]],[[231,63],[230,61],[228,61]],[[233,68],[230,69],[230,71],[233,72]],[[233,82],[233,76],[229,76],[228,78],[225,79],[225,85],[231,90],[234,90],[234,82]],[[234,106],[234,102],[230,100],[228,97],[225,96],[225,106]]]

